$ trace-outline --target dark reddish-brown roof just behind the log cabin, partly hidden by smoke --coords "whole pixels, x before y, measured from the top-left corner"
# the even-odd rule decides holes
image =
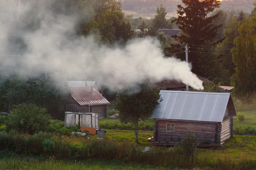
[[[197,75],[197,77],[203,81],[203,84],[204,84],[205,82],[209,82],[209,80],[207,80],[207,79],[205,79],[205,78],[203,78],[203,77],[201,77],[201,76],[198,76],[198,75]],[[184,83],[178,82],[178,81],[176,81],[176,80],[166,80],[166,79],[164,79],[164,80],[162,80],[161,82],[156,82],[156,83],[154,83],[154,84],[155,84],[158,88],[162,88],[162,89],[163,89],[163,88],[166,88],[166,89],[186,88],[186,85],[185,85]]]

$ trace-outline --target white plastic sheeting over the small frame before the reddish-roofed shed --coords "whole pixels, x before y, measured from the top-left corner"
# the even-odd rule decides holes
[[[99,129],[99,114],[65,112],[65,126],[78,125],[79,120],[81,126]]]

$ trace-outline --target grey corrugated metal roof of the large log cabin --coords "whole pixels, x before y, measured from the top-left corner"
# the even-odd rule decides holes
[[[222,122],[230,99],[229,93],[160,91],[160,94],[163,101],[154,109],[154,119]]]

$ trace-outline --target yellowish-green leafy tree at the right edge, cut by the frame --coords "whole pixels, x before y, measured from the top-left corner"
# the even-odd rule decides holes
[[[235,95],[242,97],[256,91],[256,13],[242,23],[239,34],[232,48],[236,72],[231,78],[231,84],[235,87]]]

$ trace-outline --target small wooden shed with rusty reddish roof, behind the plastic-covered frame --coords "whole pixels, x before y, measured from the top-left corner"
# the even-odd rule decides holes
[[[68,112],[97,113],[99,119],[108,117],[108,100],[95,88],[71,87],[72,97],[66,104]]]

